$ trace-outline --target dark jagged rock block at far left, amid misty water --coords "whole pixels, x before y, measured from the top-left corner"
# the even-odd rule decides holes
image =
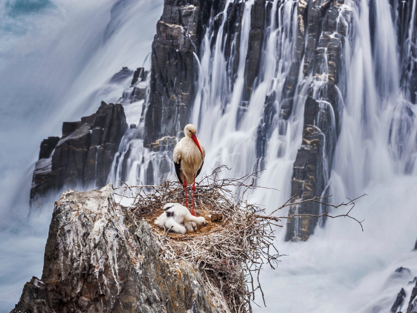
[[[95,114],[63,123],[62,137],[49,137],[40,146],[31,205],[39,204],[51,190],[93,183],[104,186],[126,129],[123,106],[105,102]]]

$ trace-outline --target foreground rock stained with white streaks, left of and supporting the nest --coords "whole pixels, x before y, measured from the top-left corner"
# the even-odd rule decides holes
[[[196,268],[165,262],[148,224],[137,227],[113,187],[64,192],[55,202],[42,278],[13,313],[215,312]]]

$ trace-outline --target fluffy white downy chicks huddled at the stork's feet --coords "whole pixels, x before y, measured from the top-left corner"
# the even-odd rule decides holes
[[[163,206],[163,210],[165,212],[156,218],[154,224],[182,235],[187,231],[195,232],[197,224],[206,223],[204,217],[191,215],[190,211],[179,203],[167,203]]]

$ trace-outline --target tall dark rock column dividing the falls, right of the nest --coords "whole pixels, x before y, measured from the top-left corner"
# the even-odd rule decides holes
[[[313,0],[304,13],[305,18],[299,19],[299,23],[301,20],[306,23],[302,30],[307,32],[302,71],[306,81],[312,77],[312,83],[304,104],[303,139],[291,180],[291,194],[297,194],[297,199],[320,197],[332,168],[346,91],[347,30],[340,20],[351,18],[350,12],[342,10],[343,4],[344,0]],[[289,215],[294,213],[319,215],[323,212],[318,203],[305,202],[291,207]],[[307,240],[317,222],[317,217],[289,220],[285,240]]]

